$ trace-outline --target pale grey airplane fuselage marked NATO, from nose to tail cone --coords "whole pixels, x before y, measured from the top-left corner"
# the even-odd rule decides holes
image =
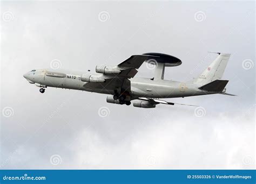
[[[52,73],[52,75],[51,75]],[[62,75],[54,75],[54,74]],[[115,91],[112,87],[104,86],[104,83],[98,83],[96,88],[91,88],[87,85],[88,82],[83,82],[81,76],[88,72],[75,72],[62,69],[37,69],[35,71],[24,74],[26,80],[30,83],[35,83],[38,87],[56,87],[62,89],[75,89],[114,95]],[[104,74],[93,74],[102,75]],[[201,89],[200,84],[192,82],[178,82],[169,80],[151,80],[144,77],[134,77],[130,79],[131,100],[138,97],[147,98],[174,98],[215,94]],[[118,89],[117,89],[118,90]]]

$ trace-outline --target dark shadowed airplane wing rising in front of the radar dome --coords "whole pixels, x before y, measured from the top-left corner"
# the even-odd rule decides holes
[[[154,55],[132,55],[130,58],[121,62],[117,66],[112,66],[112,68],[119,69],[120,73],[118,74],[103,74],[105,77],[104,83],[93,83],[88,82],[84,84],[85,88],[99,89],[108,92],[109,94],[114,94],[114,91],[131,91],[130,80],[134,77],[138,68],[142,66],[143,62],[150,59],[157,59],[159,56]],[[99,93],[100,93],[99,91]]]

